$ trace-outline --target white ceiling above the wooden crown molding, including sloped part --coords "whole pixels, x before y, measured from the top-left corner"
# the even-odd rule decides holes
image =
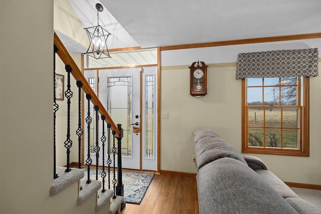
[[[83,26],[98,0],[69,0]],[[108,48],[162,47],[321,32],[320,0],[101,0]]]

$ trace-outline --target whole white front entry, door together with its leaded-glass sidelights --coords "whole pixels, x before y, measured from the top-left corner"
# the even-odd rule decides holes
[[[157,171],[157,67],[99,69],[98,79],[94,78],[96,74],[97,70],[85,71],[87,80],[94,80],[97,83],[97,85],[92,84],[92,87],[111,119],[116,125],[121,124],[123,129],[122,167]],[[85,107],[85,109],[87,108]],[[137,130],[137,128],[140,128],[140,131],[133,132],[133,129]],[[92,132],[94,132],[94,127]],[[101,122],[99,122],[98,133],[100,139],[102,135]],[[93,138],[90,140],[90,157],[95,164],[96,158],[93,151],[95,135],[94,133],[90,134],[92,136],[90,138]],[[110,142],[112,147],[112,139]],[[115,148],[117,148],[117,139],[115,140]],[[106,142],[105,161],[108,159],[107,149]],[[88,148],[85,146],[85,159],[87,151]],[[102,165],[102,160],[101,148],[99,165]],[[113,157],[111,157],[111,161],[113,161]],[[115,165],[117,166],[117,157]]]

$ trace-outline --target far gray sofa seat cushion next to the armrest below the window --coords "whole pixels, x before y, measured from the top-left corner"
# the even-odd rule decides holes
[[[276,177],[271,171],[264,169],[255,170],[268,184],[270,184],[283,198],[299,196],[283,181]]]

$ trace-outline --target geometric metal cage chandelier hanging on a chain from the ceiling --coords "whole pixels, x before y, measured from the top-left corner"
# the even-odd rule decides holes
[[[95,59],[99,58],[110,58],[108,48],[107,48],[107,39],[110,33],[106,31],[99,25],[99,12],[102,12],[104,8],[101,4],[96,4],[97,9],[97,26],[84,28],[87,32],[89,38],[89,47],[85,54],[94,57]]]

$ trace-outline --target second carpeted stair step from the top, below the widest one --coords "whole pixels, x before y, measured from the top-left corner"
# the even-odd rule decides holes
[[[82,204],[85,202],[92,194],[96,193],[101,188],[101,181],[91,180],[90,183],[86,183],[87,179],[83,178],[80,180],[80,186],[82,187],[78,193],[77,204]]]

